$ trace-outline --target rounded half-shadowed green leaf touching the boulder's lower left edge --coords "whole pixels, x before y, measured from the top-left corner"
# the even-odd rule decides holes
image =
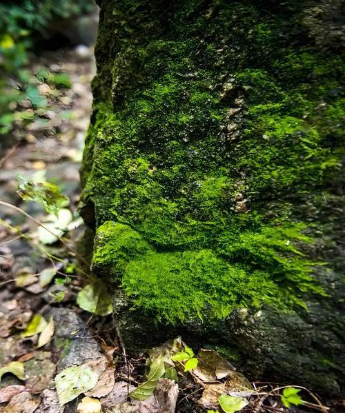
[[[112,313],[112,299],[106,285],[100,280],[86,285],[77,296],[77,304],[83,310],[99,316]]]

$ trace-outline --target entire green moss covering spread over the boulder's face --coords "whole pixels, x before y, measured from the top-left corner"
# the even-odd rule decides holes
[[[104,6],[83,201],[95,265],[158,318],[322,294],[312,245],[322,194],[342,197],[345,63],[306,38],[299,3],[261,3]]]

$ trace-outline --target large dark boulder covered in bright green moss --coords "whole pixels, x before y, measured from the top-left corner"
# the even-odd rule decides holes
[[[250,379],[340,394],[341,19],[315,23],[312,1],[99,6],[81,214],[126,345],[182,333]]]

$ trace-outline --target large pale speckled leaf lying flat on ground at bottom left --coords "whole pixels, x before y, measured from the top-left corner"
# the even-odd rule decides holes
[[[76,399],[79,394],[85,393],[95,387],[98,374],[92,372],[85,365],[68,367],[55,377],[59,405],[62,406]]]

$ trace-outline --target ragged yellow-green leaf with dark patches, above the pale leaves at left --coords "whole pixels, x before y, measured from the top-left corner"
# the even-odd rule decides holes
[[[54,183],[32,182],[30,179],[19,176],[18,194],[24,201],[36,201],[50,214],[59,212],[59,209],[68,205],[69,199],[63,195],[60,188]]]

